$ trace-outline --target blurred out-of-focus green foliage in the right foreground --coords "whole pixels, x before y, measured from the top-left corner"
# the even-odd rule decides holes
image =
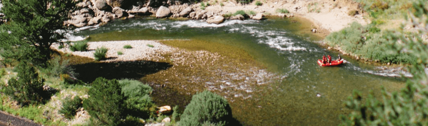
[[[342,116],[342,126],[427,126],[428,124],[428,2],[417,0],[413,3],[410,22],[421,25],[417,33],[405,34],[403,30],[390,32],[387,38],[398,40],[392,49],[401,53],[412,54],[416,63],[409,66],[413,78],[408,78],[406,86],[399,92],[387,93],[382,89],[380,99],[369,94],[366,101],[358,91],[345,102],[353,110],[348,116]],[[410,11],[409,11],[410,12]]]

